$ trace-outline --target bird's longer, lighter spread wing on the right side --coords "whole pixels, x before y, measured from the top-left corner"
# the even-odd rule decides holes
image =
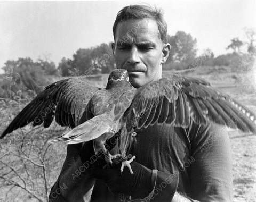
[[[124,114],[127,130],[155,123],[187,128],[191,121],[209,121],[256,131],[256,116],[248,108],[214,90],[202,79],[172,75],[139,88]]]

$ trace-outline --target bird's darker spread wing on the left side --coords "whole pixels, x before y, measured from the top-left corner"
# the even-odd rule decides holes
[[[33,122],[33,126],[47,128],[53,118],[61,126],[70,128],[78,125],[90,98],[100,88],[85,82],[85,77],[69,78],[47,86],[10,123],[0,138]]]

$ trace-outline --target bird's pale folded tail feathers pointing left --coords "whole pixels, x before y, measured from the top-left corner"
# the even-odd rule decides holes
[[[62,136],[50,140],[50,143],[66,141],[67,144],[87,142],[100,137],[106,132],[116,132],[117,123],[112,121],[107,114],[94,116],[92,119],[78,125]]]

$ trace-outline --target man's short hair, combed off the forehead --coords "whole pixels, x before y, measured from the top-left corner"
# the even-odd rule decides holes
[[[116,27],[119,22],[123,22],[130,19],[143,19],[148,18],[155,20],[158,26],[161,40],[163,43],[167,43],[167,23],[164,20],[162,9],[153,8],[149,5],[130,5],[125,6],[121,11],[117,13],[116,20],[113,26],[113,35],[115,39]]]

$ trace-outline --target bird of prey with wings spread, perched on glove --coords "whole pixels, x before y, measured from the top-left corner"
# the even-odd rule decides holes
[[[202,79],[171,75],[138,89],[132,87],[126,70],[116,69],[105,89],[93,87],[84,77],[55,82],[45,88],[11,122],[0,138],[30,122],[49,127],[53,118],[72,130],[53,141],[76,144],[93,140],[94,152],[106,160],[121,156],[127,166],[126,150],[135,129],[154,124],[188,128],[192,122],[214,122],[246,132],[256,131],[256,115],[228,95],[214,90]],[[106,140],[119,132],[119,154],[110,155]]]

